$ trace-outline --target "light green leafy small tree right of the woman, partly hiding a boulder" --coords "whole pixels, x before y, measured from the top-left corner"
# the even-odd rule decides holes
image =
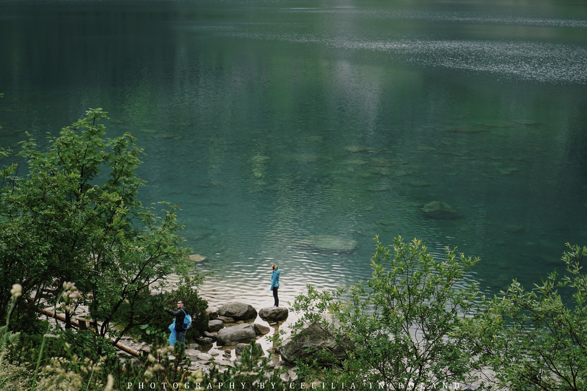
[[[406,244],[398,237],[392,249],[375,240],[373,275],[366,283],[332,293],[309,287],[308,295],[295,298],[293,309],[301,313],[295,328],[318,325],[345,352],[339,359],[322,351],[321,358],[299,363],[299,373],[316,376],[308,366],[332,362],[342,370],[322,370],[322,380],[394,390],[465,380],[474,353],[462,348],[464,336],[454,331],[474,308],[477,284],[463,277],[478,259],[447,247],[446,259],[437,261],[420,240]]]

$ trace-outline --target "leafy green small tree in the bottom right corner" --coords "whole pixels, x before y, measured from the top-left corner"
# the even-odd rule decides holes
[[[495,372],[487,389],[587,390],[587,247],[567,246],[568,274],[554,271],[532,290],[514,280],[461,331]]]

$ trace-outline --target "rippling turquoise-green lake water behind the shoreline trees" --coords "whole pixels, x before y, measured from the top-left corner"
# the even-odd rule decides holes
[[[147,152],[144,202],[183,209],[215,303],[272,304],[274,262],[282,302],[368,278],[376,234],[481,257],[468,278],[491,293],[587,244],[583,2],[0,9],[2,146],[105,108]]]

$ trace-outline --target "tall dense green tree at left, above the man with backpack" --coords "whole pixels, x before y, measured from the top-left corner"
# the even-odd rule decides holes
[[[16,164],[0,171],[0,310],[14,281],[25,297],[73,281],[102,321],[99,334],[120,325],[120,338],[149,321],[157,285],[192,265],[180,247],[178,207],[163,202],[158,212],[137,197],[145,182],[135,174],[143,153],[136,139],[104,139],[107,113],[86,114],[49,137],[46,152],[28,135],[19,152],[26,172]]]

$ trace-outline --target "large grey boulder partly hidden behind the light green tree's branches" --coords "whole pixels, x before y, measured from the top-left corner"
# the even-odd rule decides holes
[[[319,325],[312,324],[299,334],[286,339],[284,344],[279,346],[279,353],[281,353],[281,358],[287,362],[295,362],[296,359],[318,358],[318,362],[323,365],[333,363],[332,360],[321,356],[315,357],[315,353],[323,349],[332,353],[336,359],[345,357],[345,349],[335,341],[330,332]]]

